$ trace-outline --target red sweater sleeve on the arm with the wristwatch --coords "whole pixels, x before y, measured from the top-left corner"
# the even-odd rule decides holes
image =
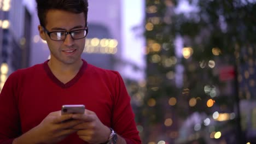
[[[141,143],[135,123],[135,115],[130,104],[130,96],[120,74],[115,80],[115,99],[112,125],[117,134],[122,136],[127,144]]]

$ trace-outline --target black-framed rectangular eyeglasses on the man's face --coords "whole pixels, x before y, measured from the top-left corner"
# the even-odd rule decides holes
[[[68,34],[71,35],[72,39],[83,39],[88,34],[88,27],[85,27],[85,29],[78,29],[70,32],[65,32],[65,31],[49,32],[45,27],[43,28],[44,28],[44,31],[49,35],[50,39],[55,41],[65,40]]]

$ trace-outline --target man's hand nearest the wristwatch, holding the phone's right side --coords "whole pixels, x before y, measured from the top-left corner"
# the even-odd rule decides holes
[[[84,121],[75,125],[73,129],[78,130],[80,139],[89,143],[104,143],[108,141],[110,129],[98,119],[95,112],[85,110],[84,114],[74,114],[73,119]]]

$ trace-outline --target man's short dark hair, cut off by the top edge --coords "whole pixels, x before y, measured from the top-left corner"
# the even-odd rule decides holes
[[[37,15],[40,25],[46,25],[46,14],[51,9],[65,10],[72,13],[84,13],[87,23],[88,0],[36,0]]]

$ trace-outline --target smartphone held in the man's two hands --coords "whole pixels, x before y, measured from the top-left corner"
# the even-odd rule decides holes
[[[66,113],[81,113],[85,111],[85,105],[62,105],[61,115]]]

